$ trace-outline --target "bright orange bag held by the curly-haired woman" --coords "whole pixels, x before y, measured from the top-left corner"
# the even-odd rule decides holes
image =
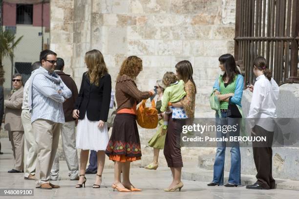
[[[137,109],[137,123],[145,129],[154,129],[158,126],[158,111],[154,100],[151,100],[151,107],[146,107],[146,101],[142,100]]]

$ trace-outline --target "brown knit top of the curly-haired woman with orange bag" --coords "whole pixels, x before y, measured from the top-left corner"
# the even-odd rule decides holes
[[[116,111],[131,109],[135,102],[138,104],[141,100],[148,99],[149,96],[151,96],[151,92],[140,91],[128,75],[122,75],[117,78],[115,85]]]

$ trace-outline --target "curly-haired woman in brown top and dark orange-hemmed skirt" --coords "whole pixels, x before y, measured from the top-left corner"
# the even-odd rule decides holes
[[[130,163],[141,159],[141,148],[136,124],[136,105],[149,98],[153,91],[140,91],[134,80],[142,70],[142,60],[128,57],[122,64],[115,86],[117,114],[114,118],[112,134],[106,154],[114,161],[114,182],[112,188],[118,191],[141,191],[129,179]],[[121,181],[123,172],[123,181]]]

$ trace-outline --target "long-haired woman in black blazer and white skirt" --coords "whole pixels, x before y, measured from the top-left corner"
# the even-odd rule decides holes
[[[78,118],[76,147],[80,153],[80,178],[76,188],[85,187],[85,169],[89,150],[97,152],[98,171],[93,188],[100,188],[108,143],[107,117],[111,95],[111,77],[99,50],[85,54],[88,71],[83,74],[73,117]]]

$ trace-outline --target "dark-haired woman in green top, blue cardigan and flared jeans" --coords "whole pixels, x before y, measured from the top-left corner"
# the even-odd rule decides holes
[[[236,131],[229,131],[229,136],[238,136],[240,122],[239,118],[231,118],[227,114],[229,99],[231,104],[235,104],[242,115],[241,99],[243,93],[244,78],[236,67],[235,58],[231,54],[224,54],[219,57],[219,67],[224,72],[216,79],[213,90],[217,94],[220,101],[221,118],[216,112],[216,126],[234,126]],[[222,128],[221,128],[222,129]],[[217,131],[217,137],[227,137],[226,132]],[[230,142],[231,144],[231,169],[228,183],[226,187],[236,187],[241,184],[241,154],[238,142]],[[217,151],[214,162],[213,181],[208,186],[223,185],[224,159],[225,159],[225,142],[217,143]]]

